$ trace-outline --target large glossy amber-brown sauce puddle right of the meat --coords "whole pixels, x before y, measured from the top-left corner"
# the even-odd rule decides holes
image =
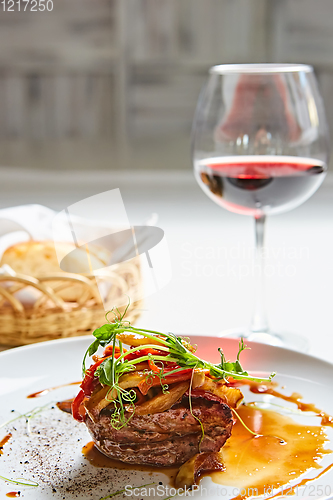
[[[252,436],[237,420],[221,450],[225,471],[210,474],[215,483],[239,488],[241,494],[235,497],[237,500],[248,498],[251,491],[256,496],[264,494],[270,498],[274,488],[280,489],[281,495],[282,486],[311,468],[321,469],[318,461],[332,453],[325,448],[327,436],[321,426],[299,424],[280,413],[253,406],[243,405],[237,413],[251,430],[262,436]]]

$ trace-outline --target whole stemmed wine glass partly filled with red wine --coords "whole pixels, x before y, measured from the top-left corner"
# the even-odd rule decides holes
[[[213,66],[193,123],[195,177],[218,205],[255,220],[255,308],[248,329],[229,330],[305,350],[307,341],[270,330],[264,308],[266,215],[305,202],[323,182],[328,129],[313,68],[304,64]]]

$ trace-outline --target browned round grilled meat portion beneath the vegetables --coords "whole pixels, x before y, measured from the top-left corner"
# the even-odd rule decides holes
[[[105,455],[133,464],[181,465],[199,452],[216,452],[231,435],[232,413],[226,404],[188,397],[169,410],[152,415],[136,415],[120,430],[110,423],[111,411],[103,410],[96,422],[86,416],[86,425],[97,448]],[[127,415],[129,416],[129,415]]]

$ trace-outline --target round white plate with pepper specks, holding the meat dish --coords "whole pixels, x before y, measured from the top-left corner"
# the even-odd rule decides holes
[[[235,359],[237,341],[215,337],[192,337],[198,344],[198,353],[204,359],[219,361],[217,347],[221,346],[229,359]],[[33,346],[13,349],[0,354],[0,424],[13,417],[11,410],[21,413],[32,410],[52,401],[62,401],[73,397],[78,386],[67,386],[50,392],[38,399],[27,399],[27,395],[41,389],[80,380],[81,361],[91,338],[45,342]],[[250,372],[267,373],[277,371],[276,380],[284,386],[288,394],[299,392],[304,401],[316,404],[322,410],[333,414],[333,365],[317,358],[277,347],[251,344],[252,349],[242,353],[242,364]],[[256,396],[258,399],[259,396]],[[271,396],[265,396],[272,398]],[[297,417],[298,418],[298,417]],[[307,422],[316,423],[318,418],[308,418]],[[98,500],[125,485],[141,486],[145,483],[162,481],[167,484],[163,474],[148,472],[119,471],[95,468],[82,456],[82,446],[90,441],[84,424],[78,424],[72,417],[57,408],[41,413],[31,421],[32,434],[25,435],[26,424],[17,421],[12,430],[13,437],[4,447],[0,457],[0,474],[9,478],[23,477],[40,483],[37,488],[19,487],[0,481],[0,498],[7,498],[10,491],[21,491],[26,499],[92,499]],[[6,431],[0,429],[0,440]],[[333,447],[333,429],[326,428]],[[321,462],[324,467],[331,463],[327,455]],[[28,463],[25,463],[28,462]],[[313,476],[313,471],[312,471]],[[311,477],[311,471],[304,477]],[[230,498],[222,495],[222,487],[210,478],[201,482],[207,493],[196,492],[194,497],[208,499]],[[310,491],[299,490],[302,499],[332,498],[333,470],[311,483]],[[326,495],[322,495],[321,491]],[[163,487],[164,488],[164,487]],[[321,489],[322,488],[322,489]],[[156,490],[157,491],[157,490]],[[203,490],[204,491],[204,490]],[[162,493],[162,489],[160,490]],[[165,498],[160,493],[149,498]],[[116,498],[123,498],[121,495]],[[125,498],[145,498],[125,496]],[[146,497],[148,498],[148,497]]]

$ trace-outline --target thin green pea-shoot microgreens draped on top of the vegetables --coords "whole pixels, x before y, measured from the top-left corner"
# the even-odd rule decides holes
[[[243,369],[239,358],[242,351],[248,349],[243,339],[239,342],[236,361],[227,361],[222,349],[219,348],[221,361],[218,364],[213,364],[196,356],[193,352],[193,347],[189,344],[188,340],[183,337],[177,336],[171,332],[161,333],[132,326],[129,321],[124,320],[128,307],[129,304],[123,314],[121,314],[117,308],[115,310],[112,309],[106,314],[108,323],[97,328],[93,332],[95,340],[88,347],[82,363],[84,376],[86,373],[87,356],[93,356],[100,346],[106,347],[107,345],[112,345],[112,354],[98,366],[94,373],[94,377],[97,377],[100,384],[103,386],[110,386],[107,400],[110,399],[110,403],[112,402],[114,404],[111,424],[117,429],[127,424],[129,419],[132,418],[135,410],[135,391],[133,389],[123,389],[120,386],[120,378],[127,373],[134,372],[136,370],[136,365],[139,363],[148,362],[149,367],[153,367],[153,370],[146,371],[146,382],[149,385],[149,381],[157,376],[160,380],[163,392],[168,390],[166,375],[170,377],[170,375],[174,375],[186,369],[204,369],[209,372],[210,376],[217,380],[224,381],[228,381],[228,379],[232,377],[236,380],[245,379],[256,382],[269,382],[275,375],[275,373],[272,373],[267,378],[254,377]],[[114,316],[112,322],[108,319],[109,314],[113,314]],[[117,337],[125,332],[145,337],[148,341],[151,340],[151,343],[143,343],[142,345],[132,347],[124,352],[122,343],[118,341]],[[156,343],[156,341],[158,341],[158,343]],[[120,351],[120,353],[118,351],[117,356],[115,356],[116,347],[119,347]],[[142,353],[142,356],[140,356],[141,350],[145,351]],[[153,352],[150,353],[149,350]],[[134,353],[134,359],[131,359],[131,357],[128,359],[129,355]],[[176,367],[173,370],[168,370],[166,374],[164,371],[164,363],[174,363]],[[126,420],[125,407],[128,404],[132,409],[130,411],[130,417]]]

